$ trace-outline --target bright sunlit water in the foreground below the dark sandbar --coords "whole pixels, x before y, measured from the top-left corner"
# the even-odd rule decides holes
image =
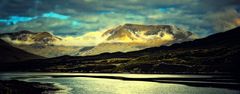
[[[70,88],[70,94],[239,94],[239,91],[190,87],[143,81],[122,81],[99,78],[31,79],[31,81],[61,83]]]

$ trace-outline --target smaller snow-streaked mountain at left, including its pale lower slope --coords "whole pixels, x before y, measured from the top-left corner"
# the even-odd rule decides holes
[[[55,45],[63,39],[49,32],[19,31],[0,34],[0,38],[16,48],[43,57],[75,55],[80,47]]]

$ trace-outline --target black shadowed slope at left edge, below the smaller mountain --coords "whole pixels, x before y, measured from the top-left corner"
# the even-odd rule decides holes
[[[0,39],[0,61],[4,62],[19,62],[30,59],[42,59],[43,57],[27,53],[18,48],[14,48],[10,44]]]

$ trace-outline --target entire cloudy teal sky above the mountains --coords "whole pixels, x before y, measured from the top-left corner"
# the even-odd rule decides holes
[[[59,36],[133,24],[170,24],[205,37],[240,25],[240,0],[0,0],[0,33]]]

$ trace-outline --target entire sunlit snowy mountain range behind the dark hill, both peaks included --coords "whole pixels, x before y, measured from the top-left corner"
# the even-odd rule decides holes
[[[189,41],[192,40],[192,35],[191,32],[173,25],[124,24],[102,33],[100,36],[104,40],[90,48],[89,46],[65,46],[63,43],[71,43],[71,41],[49,32],[22,30],[0,34],[0,38],[14,47],[51,58],[61,55],[87,56],[105,52],[137,51],[149,47]]]

